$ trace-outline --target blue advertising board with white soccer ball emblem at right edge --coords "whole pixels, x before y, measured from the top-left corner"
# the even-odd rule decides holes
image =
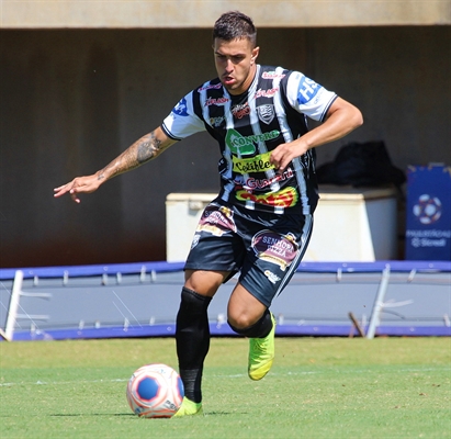
[[[451,260],[451,167],[407,170],[406,259]]]

